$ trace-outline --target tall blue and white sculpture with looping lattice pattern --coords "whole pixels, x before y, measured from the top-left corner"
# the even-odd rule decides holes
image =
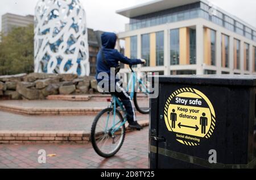
[[[34,41],[36,73],[89,76],[86,16],[79,0],[39,0]]]

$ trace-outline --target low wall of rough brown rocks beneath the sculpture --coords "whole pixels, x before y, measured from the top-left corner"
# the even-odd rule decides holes
[[[18,74],[0,76],[0,98],[46,99],[48,95],[93,94],[97,92],[94,77],[75,74]]]

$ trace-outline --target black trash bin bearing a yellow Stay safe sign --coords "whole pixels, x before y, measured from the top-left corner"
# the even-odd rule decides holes
[[[256,76],[159,76],[150,168],[255,168]]]

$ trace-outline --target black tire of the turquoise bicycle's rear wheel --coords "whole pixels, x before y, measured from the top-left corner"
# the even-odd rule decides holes
[[[97,146],[97,143],[96,143],[96,136],[95,136],[95,132],[96,132],[96,127],[97,127],[97,123],[98,123],[98,120],[101,118],[102,115],[104,115],[106,112],[112,112],[113,111],[113,108],[106,108],[105,110],[102,110],[97,116],[96,118],[94,119],[93,121],[93,124],[92,124],[92,129],[91,129],[91,133],[90,133],[90,140],[92,142],[92,146],[93,146],[93,149],[95,150],[95,152],[101,156],[101,157],[105,157],[105,158],[109,158],[109,157],[113,157],[122,147],[123,145],[123,141],[125,141],[125,124],[123,124],[122,128],[124,129],[123,131],[123,136],[122,136],[122,140],[121,140],[121,143],[119,144],[118,148],[113,152],[113,153],[109,153],[109,154],[106,154],[104,152],[102,152],[98,146]],[[121,114],[121,112],[119,112],[118,110],[116,110],[116,114],[119,116],[120,120],[121,120],[121,123],[123,122],[123,116]]]

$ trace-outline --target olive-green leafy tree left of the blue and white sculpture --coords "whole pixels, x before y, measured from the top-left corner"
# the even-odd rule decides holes
[[[0,43],[0,75],[34,71],[34,26],[13,28]]]

